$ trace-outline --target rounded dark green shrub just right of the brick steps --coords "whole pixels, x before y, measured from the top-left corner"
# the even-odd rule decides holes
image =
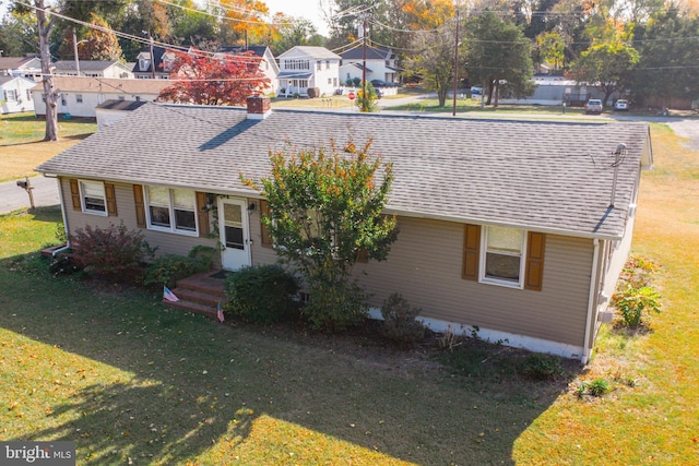
[[[226,277],[226,312],[259,324],[288,319],[298,309],[296,278],[280,265],[244,267]]]

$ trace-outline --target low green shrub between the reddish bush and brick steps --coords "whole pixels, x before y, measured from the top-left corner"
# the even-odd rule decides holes
[[[187,256],[163,255],[145,268],[143,284],[174,287],[177,280],[209,271],[214,252],[213,248],[196,247]]]

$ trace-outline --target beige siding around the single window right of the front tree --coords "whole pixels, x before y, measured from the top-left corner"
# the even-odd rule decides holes
[[[388,261],[356,267],[374,306],[398,291],[426,318],[582,346],[592,240],[546,235],[543,289],[533,291],[463,279],[463,224],[401,217],[399,227]]]

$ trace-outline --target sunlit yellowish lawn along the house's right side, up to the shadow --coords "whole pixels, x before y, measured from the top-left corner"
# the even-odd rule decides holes
[[[699,464],[699,153],[651,128],[655,170],[642,176],[633,250],[661,265],[663,313],[645,332],[602,327],[574,384],[603,378],[614,391],[559,397],[514,443],[517,463]]]

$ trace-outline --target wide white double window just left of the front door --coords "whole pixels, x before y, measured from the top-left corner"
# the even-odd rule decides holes
[[[197,235],[194,191],[146,187],[149,228],[181,235]]]

